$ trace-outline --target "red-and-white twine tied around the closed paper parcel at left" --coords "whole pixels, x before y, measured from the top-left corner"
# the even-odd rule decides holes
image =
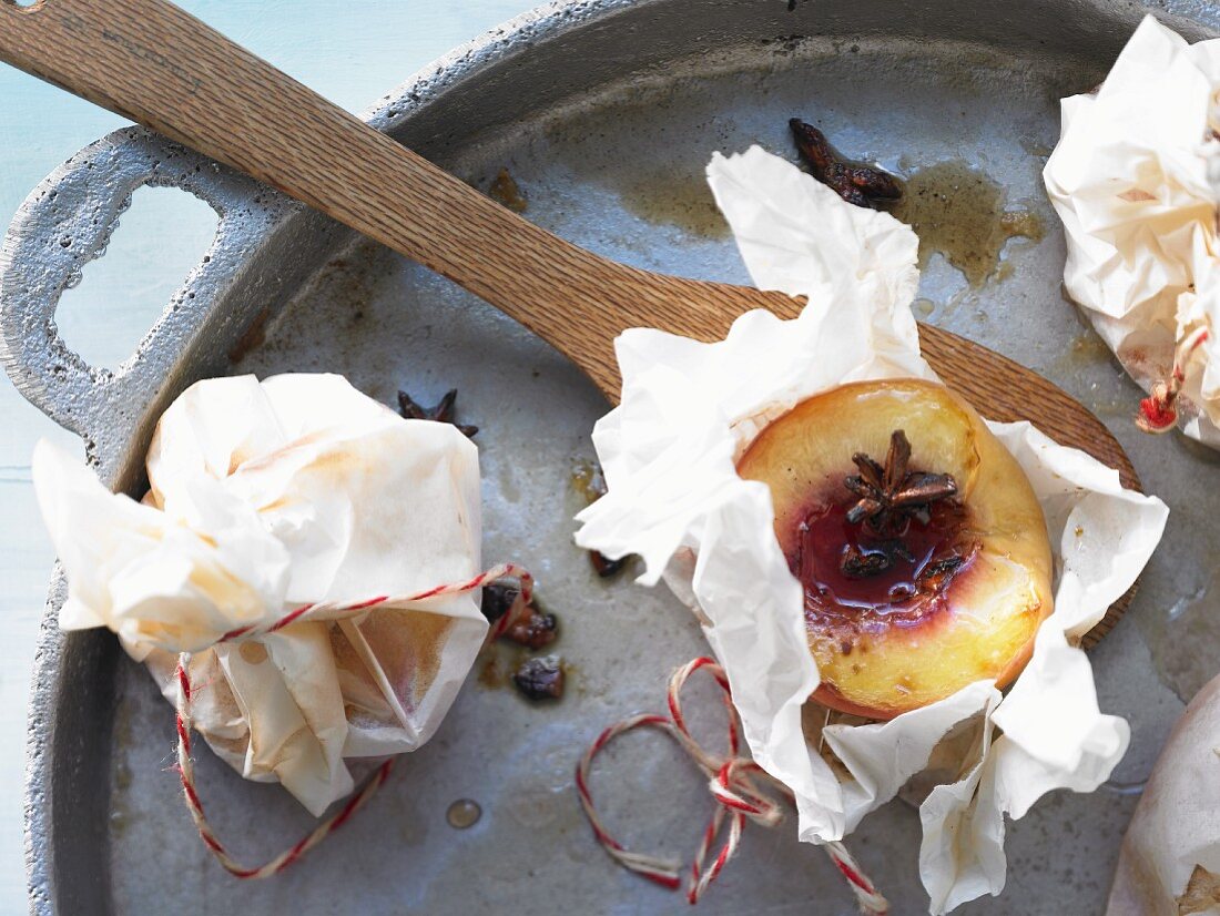
[[[353,618],[368,614],[377,607],[423,601],[429,598],[439,598],[442,595],[464,594],[466,592],[473,592],[477,588],[482,588],[489,582],[503,578],[516,578],[520,582],[521,594],[518,603],[523,601],[523,604],[527,605],[533,592],[533,578],[528,572],[515,564],[500,564],[499,566],[493,566],[487,572],[479,573],[466,582],[438,585],[411,595],[381,595],[362,601],[327,601],[303,605],[301,607],[296,607],[295,610],[292,610],[268,623],[250,624],[229,631],[217,639],[214,645],[257,639],[259,637],[267,635],[268,633],[276,633],[292,623],[301,621],[351,621]],[[511,611],[503,615],[500,621],[497,621],[497,624],[490,629],[488,637],[494,639],[497,635],[503,633],[508,627],[506,618],[512,616],[514,614]],[[181,653],[178,655],[178,666],[174,671],[174,678],[178,682],[178,696],[176,703],[178,744],[177,764],[174,768],[178,771],[178,777],[182,781],[183,799],[185,800],[187,810],[190,812],[190,817],[195,822],[195,828],[199,831],[199,837],[203,839],[204,845],[211,850],[212,855],[226,871],[238,878],[270,878],[271,876],[282,872],[293,862],[298,861],[301,856],[309,853],[309,850],[314,849],[314,846],[346,823],[353,815],[356,814],[356,811],[368,804],[368,800],[376,794],[377,789],[382,787],[389,777],[390,771],[394,768],[395,757],[388,757],[360,784],[355,792],[348,795],[343,806],[339,807],[338,811],[321,821],[312,831],[301,837],[296,843],[282,851],[279,855],[257,867],[248,867],[234,859],[216,835],[216,831],[212,828],[211,822],[204,814],[204,804],[199,798],[199,790],[195,785],[195,762],[190,756],[190,732],[193,727],[190,710],[194,694],[198,693],[198,689],[190,682],[190,653]],[[387,699],[389,700],[389,698]],[[393,700],[392,706],[396,707],[396,700]]]

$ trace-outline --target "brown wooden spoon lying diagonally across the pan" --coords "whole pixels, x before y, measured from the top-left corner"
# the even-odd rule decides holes
[[[750,309],[800,310],[778,293],[649,273],[565,242],[166,0],[0,0],[0,59],[448,277],[554,345],[611,401],[620,390],[612,342],[626,328],[716,340]],[[1028,420],[1139,485],[1102,422],[1047,379],[930,324],[920,340],[932,368],[987,417]],[[1100,638],[1125,604],[1091,635]]]

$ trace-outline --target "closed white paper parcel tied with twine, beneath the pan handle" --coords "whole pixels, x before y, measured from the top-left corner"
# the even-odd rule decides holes
[[[477,574],[478,454],[466,437],[403,420],[339,376],[217,378],[161,417],[148,474],[140,504],[39,443],[34,487],[67,572],[65,629],[112,629],[171,703],[177,654],[193,653],[196,729],[314,815],[351,792],[344,757],[428,740],[487,632],[477,592],[216,643],[305,604]]]

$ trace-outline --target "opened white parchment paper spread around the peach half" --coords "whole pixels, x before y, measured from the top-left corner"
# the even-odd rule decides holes
[[[770,492],[739,478],[734,461],[813,394],[935,378],[910,311],[917,240],[758,148],[716,155],[708,176],[754,282],[809,305],[792,321],[744,315],[714,344],[649,329],[619,338],[622,403],[594,431],[609,493],[578,516],[577,542],[640,554],[640,582],[664,577],[695,611],[755,760],[795,794],[803,840],[841,839],[935,759],[953,776],[920,810],[931,909],[999,893],[1004,815],[1021,817],[1054,788],[1097,788],[1126,750],[1127,725],[1099,712],[1076,640],[1138,576],[1168,510],[1027,423],[991,424],[1046,512],[1055,611],[1006,695],[978,682],[889,722],[826,727],[842,765],[832,767],[802,727],[819,684],[802,588],[773,533]]]

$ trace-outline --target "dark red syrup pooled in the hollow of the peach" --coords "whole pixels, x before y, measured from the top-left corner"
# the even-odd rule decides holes
[[[788,568],[800,579],[805,621],[814,632],[882,632],[913,627],[949,609],[953,581],[965,572],[978,545],[969,510],[956,501],[930,506],[927,521],[908,518],[903,528],[878,533],[869,522],[852,523],[847,503],[815,505],[797,527]],[[883,557],[886,568],[849,574],[850,551]],[[849,642],[848,642],[849,645]]]

